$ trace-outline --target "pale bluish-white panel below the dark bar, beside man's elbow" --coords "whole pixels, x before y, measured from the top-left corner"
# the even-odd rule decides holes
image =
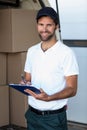
[[[69,99],[68,120],[87,124],[87,48],[72,48],[79,64],[77,95]]]

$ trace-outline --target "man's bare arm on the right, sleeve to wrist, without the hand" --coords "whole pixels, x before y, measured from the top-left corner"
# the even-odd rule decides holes
[[[51,96],[48,97],[49,100],[65,99],[76,95],[77,92],[77,75],[67,76],[66,87]]]

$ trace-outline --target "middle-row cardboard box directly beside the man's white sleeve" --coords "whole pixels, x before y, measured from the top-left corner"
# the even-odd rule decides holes
[[[7,59],[7,83],[19,83],[24,73],[26,52],[10,53]]]

